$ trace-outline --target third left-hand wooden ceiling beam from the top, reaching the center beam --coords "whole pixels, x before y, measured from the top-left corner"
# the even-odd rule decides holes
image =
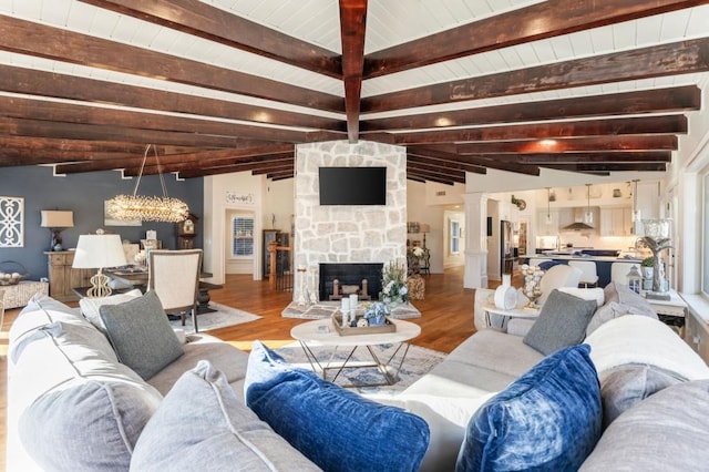
[[[346,129],[341,120],[1,64],[0,90],[254,123],[330,131]]]

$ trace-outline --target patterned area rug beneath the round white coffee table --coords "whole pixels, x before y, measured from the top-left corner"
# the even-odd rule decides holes
[[[374,353],[380,360],[389,359],[391,355],[394,352],[399,345],[398,343],[389,343],[389,345],[379,345],[372,346]],[[403,350],[404,347],[402,347]],[[351,348],[341,347],[335,350],[331,347],[316,347],[311,348],[315,356],[318,358],[320,363],[327,362],[330,356],[333,356],[335,361],[343,360],[349,353]],[[282,348],[276,349],[280,356],[282,356],[288,362],[296,365],[298,367],[302,367],[304,369],[314,370],[306,358],[305,351],[302,347],[300,347],[299,342],[292,342]],[[394,357],[394,360],[389,366],[389,372],[392,376],[395,376],[397,382],[393,386],[377,386],[377,387],[354,387],[353,390],[362,393],[363,396],[372,394],[372,396],[389,396],[401,392],[407,389],[410,384],[421,378],[423,374],[428,373],[431,369],[433,369],[439,362],[441,362],[445,358],[444,352],[434,351],[432,349],[422,348],[419,346],[410,345],[409,352],[407,352],[407,357],[401,366],[401,370],[397,373],[395,367],[399,366],[399,359],[402,351]],[[360,346],[357,348],[352,356],[352,361],[360,363],[370,363],[372,361],[371,356],[366,347]],[[317,369],[317,366],[316,366]],[[318,374],[321,376],[321,371],[317,369]],[[332,380],[335,377],[335,371],[328,371],[328,380]],[[361,383],[378,383],[383,382],[384,376],[377,368],[358,368],[358,369],[345,369],[339,377],[336,379],[335,383],[340,386],[349,386],[349,384],[361,384]]]

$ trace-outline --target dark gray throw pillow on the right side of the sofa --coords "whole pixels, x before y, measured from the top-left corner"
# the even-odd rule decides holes
[[[578,345],[586,337],[586,326],[596,307],[596,300],[552,290],[523,342],[545,356]]]

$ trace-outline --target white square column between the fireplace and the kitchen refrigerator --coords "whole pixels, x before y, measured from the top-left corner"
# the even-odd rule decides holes
[[[487,288],[487,199],[482,192],[463,194],[465,202],[465,274],[463,287]]]

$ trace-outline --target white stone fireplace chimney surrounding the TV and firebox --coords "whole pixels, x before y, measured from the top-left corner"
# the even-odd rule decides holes
[[[386,166],[386,205],[320,205],[318,173],[328,166]],[[368,276],[369,293],[377,297],[381,267],[407,255],[407,153],[401,146],[360,141],[299,144],[296,146],[294,261],[299,269],[294,280],[294,300],[299,287],[308,287],[327,300],[319,279],[321,265],[377,264]],[[338,274],[339,275],[339,274]],[[298,279],[307,277],[304,285]],[[354,276],[358,277],[358,276]],[[359,280],[351,285],[361,284]],[[331,285],[326,280],[323,286]],[[348,283],[348,285],[350,285]],[[331,293],[331,288],[330,288]]]

